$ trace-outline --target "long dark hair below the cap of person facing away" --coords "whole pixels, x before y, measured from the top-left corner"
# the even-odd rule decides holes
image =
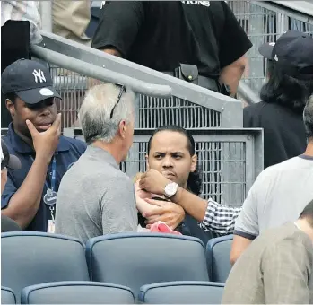
[[[283,74],[273,60],[267,61],[267,74],[269,80],[261,89],[261,100],[302,113],[306,101],[313,93],[313,80],[298,80]]]

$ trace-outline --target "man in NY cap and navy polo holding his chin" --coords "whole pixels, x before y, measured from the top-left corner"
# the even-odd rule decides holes
[[[5,68],[2,91],[13,122],[4,142],[22,162],[8,168],[2,214],[29,231],[54,231],[59,183],[85,151],[82,141],[61,134],[51,75],[38,61],[20,59]]]

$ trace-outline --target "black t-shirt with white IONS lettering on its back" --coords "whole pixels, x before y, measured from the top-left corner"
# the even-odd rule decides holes
[[[109,46],[154,70],[182,63],[218,77],[252,44],[224,1],[114,1],[103,5],[92,40],[93,48]]]

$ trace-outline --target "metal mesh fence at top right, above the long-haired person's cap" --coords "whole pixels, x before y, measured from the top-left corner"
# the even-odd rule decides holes
[[[252,90],[259,92],[265,82],[266,66],[258,48],[265,42],[275,42],[286,30],[312,34],[313,22],[303,14],[265,1],[229,1],[228,4],[253,43],[248,51],[244,79]]]

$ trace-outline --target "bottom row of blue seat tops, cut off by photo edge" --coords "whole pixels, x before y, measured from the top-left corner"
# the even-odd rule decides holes
[[[210,282],[153,283],[141,287],[138,301],[145,304],[220,304],[223,284]],[[1,303],[16,304],[13,290],[1,288]],[[135,304],[128,287],[96,282],[41,283],[26,287],[22,304]]]

